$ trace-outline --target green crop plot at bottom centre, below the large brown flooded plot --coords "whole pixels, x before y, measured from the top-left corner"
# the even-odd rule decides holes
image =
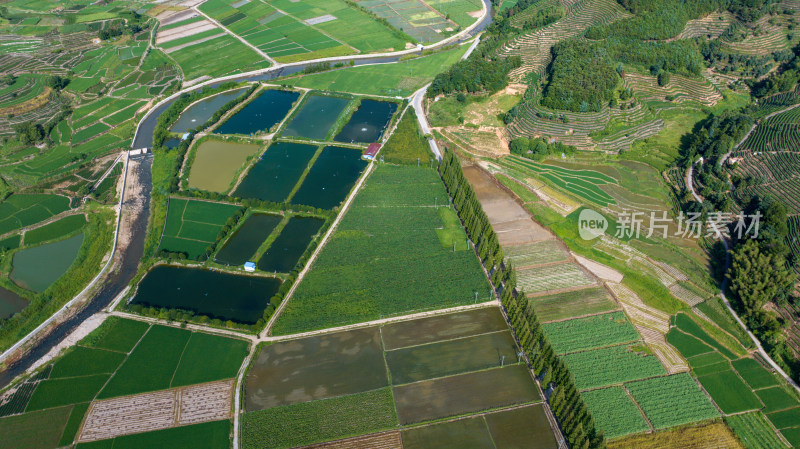
[[[245,413],[242,447],[305,446],[397,427],[389,388]]]

